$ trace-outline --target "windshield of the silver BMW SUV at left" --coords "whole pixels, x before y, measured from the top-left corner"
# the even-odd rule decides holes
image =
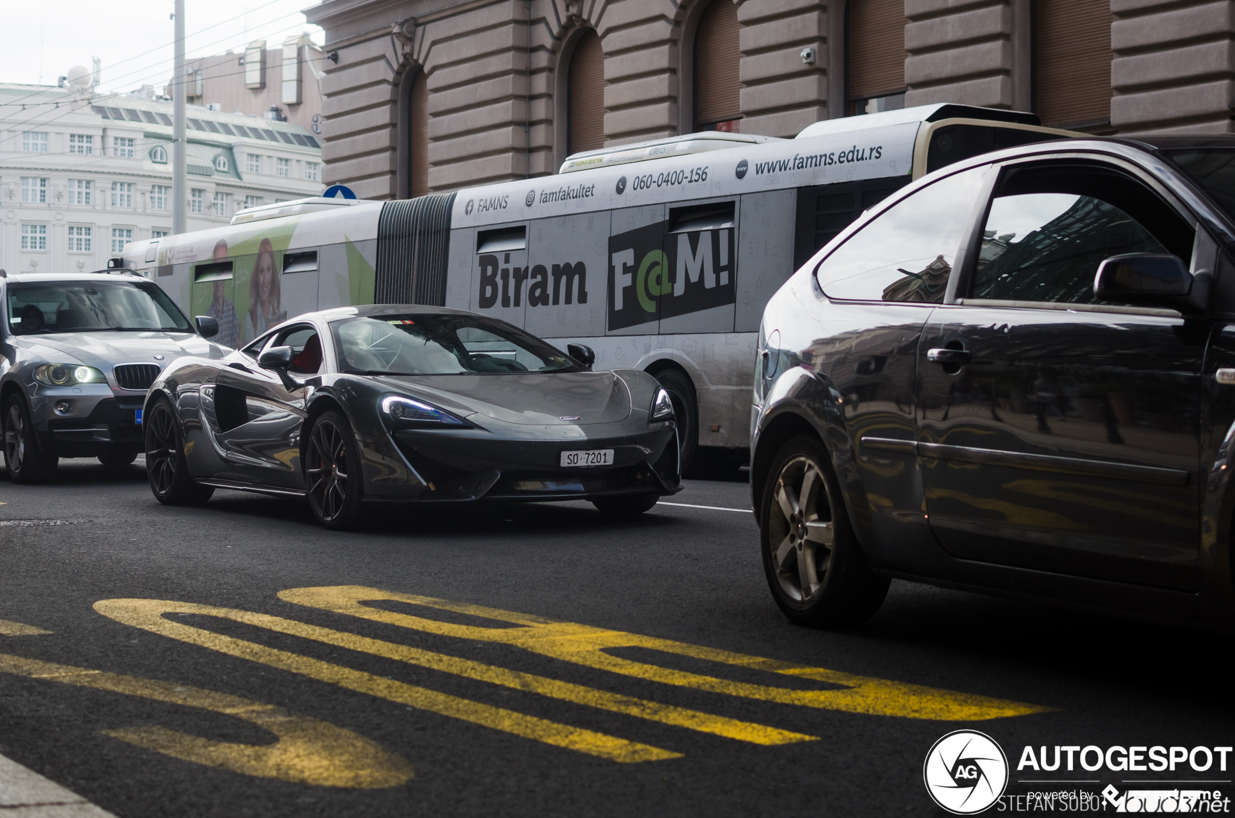
[[[14,335],[159,330],[193,332],[189,319],[149,282],[28,282],[7,287]]]

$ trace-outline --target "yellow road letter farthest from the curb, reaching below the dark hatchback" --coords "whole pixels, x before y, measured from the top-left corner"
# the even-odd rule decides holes
[[[711,691],[725,696],[797,704],[846,713],[867,713],[872,715],[895,715],[915,719],[937,719],[945,722],[976,722],[1044,713],[1053,708],[1010,702],[1005,699],[972,696],[920,685],[905,685],[869,676],[855,676],[824,667],[811,667],[782,662],[760,656],[748,656],[727,650],[703,647],[687,643],[641,636],[620,630],[605,630],[568,622],[555,622],[530,614],[520,614],[496,608],[458,604],[419,597],[406,593],[379,591],[361,586],[338,586],[326,588],[293,588],[280,591],[279,598],[312,608],[322,608],[336,613],[350,614],[372,622],[380,622],[401,628],[412,628],[425,633],[475,639],[480,641],[514,645],[535,654],[561,659],[587,667],[634,676],[636,678]],[[483,628],[477,625],[456,625],[410,614],[393,613],[367,607],[364,602],[393,601],[414,605],[425,605],[438,610],[493,619],[520,625],[519,628]],[[98,607],[98,605],[96,605]],[[832,685],[842,685],[842,689],[799,691],[768,685],[731,682],[727,680],[669,670],[646,662],[620,659],[604,651],[615,647],[646,647],[667,654],[692,656],[714,662],[764,670],[784,676],[811,678]]]

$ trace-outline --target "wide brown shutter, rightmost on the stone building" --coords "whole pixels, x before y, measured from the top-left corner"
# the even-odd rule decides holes
[[[1110,0],[1037,0],[1034,108],[1044,125],[1110,121]]]

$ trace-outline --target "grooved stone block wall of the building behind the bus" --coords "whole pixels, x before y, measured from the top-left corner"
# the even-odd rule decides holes
[[[432,190],[555,173],[566,143],[558,65],[583,26],[605,52],[606,143],[688,132],[693,27],[705,1],[324,0],[308,14],[338,54],[322,83],[326,180],[367,198],[399,195],[400,152],[410,150],[400,143],[400,84],[421,70]],[[846,0],[735,1],[741,129],[792,137],[841,115]],[[1110,2],[1110,129],[1231,130],[1235,2]],[[904,4],[906,105],[1031,110],[1031,0]],[[813,63],[803,48],[815,49]]]

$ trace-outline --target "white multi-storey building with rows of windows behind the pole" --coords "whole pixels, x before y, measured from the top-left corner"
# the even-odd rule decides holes
[[[290,122],[189,106],[189,230],[320,195],[321,146]],[[0,83],[0,267],[99,269],[172,230],[172,103]]]

